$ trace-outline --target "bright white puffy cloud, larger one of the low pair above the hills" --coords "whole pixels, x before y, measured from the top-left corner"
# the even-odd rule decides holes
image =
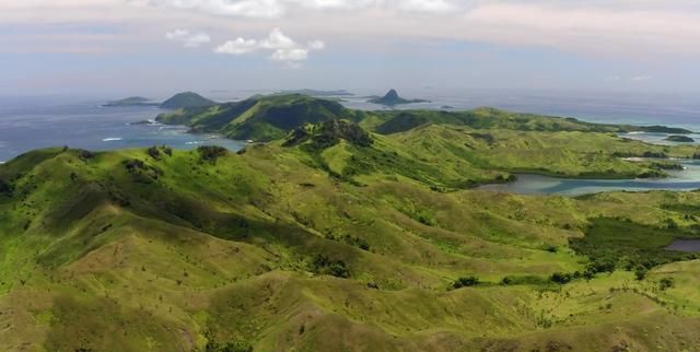
[[[312,50],[322,50],[325,44],[320,40],[308,42],[302,46],[287,36],[280,28],[275,28],[262,39],[246,39],[238,37],[214,48],[217,54],[244,55],[258,50],[271,50],[270,59],[290,67],[299,67],[308,59]]]

